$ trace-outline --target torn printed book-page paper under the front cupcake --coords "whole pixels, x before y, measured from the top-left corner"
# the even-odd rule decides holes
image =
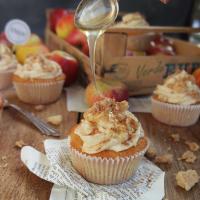
[[[119,185],[97,185],[87,182],[72,167],[67,139],[46,140],[46,156],[32,147],[23,147],[21,160],[42,179],[54,183],[50,200],[161,200],[164,196],[164,172],[143,159],[136,174]]]

